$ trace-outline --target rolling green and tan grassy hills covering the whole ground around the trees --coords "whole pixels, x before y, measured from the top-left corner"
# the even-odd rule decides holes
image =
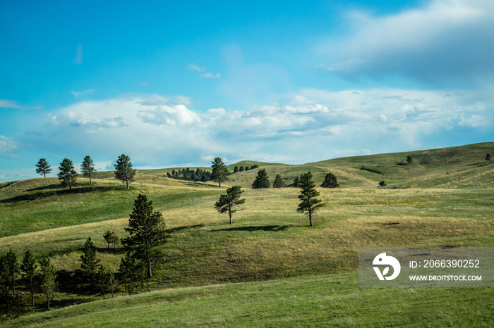
[[[307,171],[316,185],[327,172],[337,175],[339,188],[318,188],[327,206],[313,228],[296,212],[299,189],[248,189],[259,169],[231,175],[226,183],[245,190],[233,225],[214,208],[224,187],[163,177],[171,169],[140,171],[130,190],[110,179],[111,172],[100,172],[92,185],[80,179],[73,193],[59,189],[55,178],[0,184],[0,253],[12,248],[18,257],[26,249],[49,255],[64,285],[54,305],[73,305],[8,322],[79,325],[96,311],[102,324],[135,313],[131,317],[170,326],[380,325],[370,311],[375,307],[384,311],[384,325],[491,326],[490,289],[358,289],[356,270],[362,246],[493,247],[494,165],[483,160],[493,149],[489,143],[306,165],[258,163],[271,179],[279,173],[289,183]],[[397,165],[406,156],[414,162]],[[388,186],[378,189],[382,179]],[[141,289],[157,291],[123,296],[120,289],[114,300],[74,305],[101,298],[80,279],[85,239],[91,236],[102,263],[117,270],[123,249],[107,249],[102,234],[110,229],[125,236],[140,193],[162,211],[171,234],[162,263]],[[222,285],[207,286],[215,284]],[[212,310],[215,304],[219,308]],[[136,323],[127,319],[123,323]]]

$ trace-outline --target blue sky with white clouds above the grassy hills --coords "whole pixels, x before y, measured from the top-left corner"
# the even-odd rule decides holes
[[[0,182],[494,141],[494,1],[1,1]]]

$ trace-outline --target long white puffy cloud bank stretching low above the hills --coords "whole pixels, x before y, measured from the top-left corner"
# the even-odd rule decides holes
[[[56,113],[58,125],[52,126],[51,137],[90,149],[100,160],[126,153],[140,166],[203,164],[202,158],[211,156],[301,163],[428,148],[427,139],[435,133],[482,129],[493,121],[486,105],[490,94],[305,89],[284,95],[292,103],[248,111],[194,111],[182,103],[147,101],[159,95],[85,101]]]

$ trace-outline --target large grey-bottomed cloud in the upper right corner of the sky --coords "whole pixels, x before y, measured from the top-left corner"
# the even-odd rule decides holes
[[[494,75],[493,17],[494,1],[486,0],[433,0],[385,16],[352,13],[353,32],[318,48],[326,58],[320,66],[349,77],[483,81]]]

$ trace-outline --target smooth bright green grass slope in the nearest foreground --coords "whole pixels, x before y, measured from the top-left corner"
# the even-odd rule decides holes
[[[5,327],[491,327],[490,289],[359,289],[354,273],[154,291]]]

